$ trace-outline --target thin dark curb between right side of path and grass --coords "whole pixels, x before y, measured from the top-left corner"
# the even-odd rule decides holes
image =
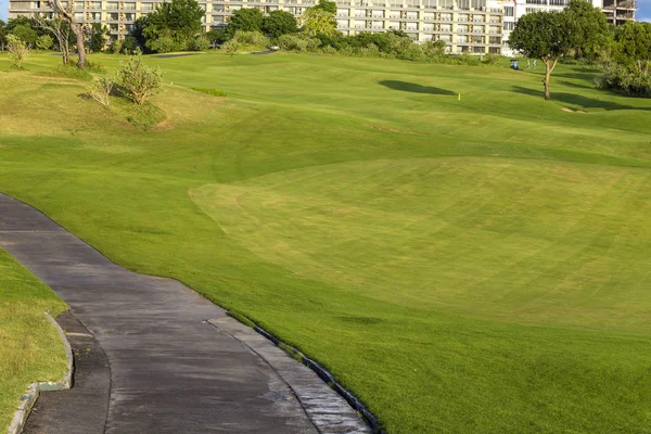
[[[240,323],[255,330],[257,333],[271,341],[271,343],[273,343],[273,345],[276,345],[278,348],[282,349],[292,358],[296,359],[298,362],[311,369],[326,384],[328,384],[334,392],[336,392],[342,398],[344,398],[346,403],[348,403],[348,405],[353,407],[353,409],[362,417],[362,419],[369,424],[371,431],[374,434],[386,434],[386,431],[384,430],[378,418],[363,405],[361,400],[359,400],[359,398],[357,398],[350,391],[346,390],[343,385],[341,385],[341,383],[336,381],[334,375],[328,369],[323,368],[317,361],[307,357],[297,348],[282,342],[280,339],[256,324],[246,316],[233,310],[228,310],[227,314],[229,317],[235,319]]]

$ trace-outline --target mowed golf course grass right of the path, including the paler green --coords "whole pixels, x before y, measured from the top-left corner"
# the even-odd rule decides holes
[[[299,347],[388,433],[651,433],[649,100],[585,66],[545,102],[505,65],[209,53],[146,58],[159,110],[129,114],[58,61],[0,73],[0,191]]]

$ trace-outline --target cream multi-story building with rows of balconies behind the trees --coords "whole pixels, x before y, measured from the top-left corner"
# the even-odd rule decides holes
[[[74,0],[68,0],[74,1]],[[163,0],[164,1],[164,0]],[[288,11],[297,20],[318,0],[199,0],[206,11],[206,30],[228,24],[242,8],[263,13]],[[635,0],[588,0],[602,8],[609,21],[622,24],[634,20]],[[74,1],[79,22],[102,23],[112,38],[123,39],[133,22],[152,12],[161,0]],[[414,41],[443,40],[450,53],[511,54],[507,41],[518,20],[538,10],[561,10],[569,0],[336,0],[339,29],[345,35],[400,29]],[[603,3],[602,3],[603,2]],[[64,1],[64,4],[68,4]],[[51,14],[42,0],[10,0],[9,17]]]

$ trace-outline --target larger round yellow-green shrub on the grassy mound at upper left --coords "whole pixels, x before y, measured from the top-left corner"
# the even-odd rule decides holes
[[[146,66],[142,56],[135,55],[122,64],[117,81],[131,101],[142,105],[161,89],[163,73],[158,68]]]

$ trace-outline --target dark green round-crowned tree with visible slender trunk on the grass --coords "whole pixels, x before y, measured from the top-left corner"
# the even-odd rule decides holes
[[[520,18],[509,37],[509,46],[523,55],[539,59],[546,67],[545,99],[549,100],[551,73],[561,56],[576,47],[576,25],[565,12],[540,11]]]

